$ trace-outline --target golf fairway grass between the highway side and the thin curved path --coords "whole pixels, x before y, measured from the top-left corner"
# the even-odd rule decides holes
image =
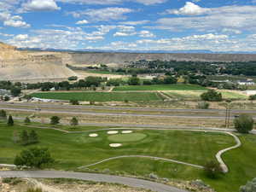
[[[15,154],[28,148],[12,141],[14,131],[32,130],[26,126],[7,127],[0,125],[0,162],[13,163]],[[110,148],[107,131],[97,131],[99,137],[89,137],[92,132],[62,133],[55,130],[34,129],[40,143],[34,146],[48,147],[55,159],[56,168],[75,169],[99,160],[124,154],[145,154],[204,165],[206,160],[214,160],[219,149],[235,142],[232,137],[195,131],[136,131],[147,137],[137,142],[123,142],[120,148]],[[127,137],[125,135],[125,137]],[[137,137],[137,135],[134,135]],[[133,135],[131,135],[133,137]],[[178,143],[178,144],[177,144]],[[110,168],[110,167],[109,167]]]

